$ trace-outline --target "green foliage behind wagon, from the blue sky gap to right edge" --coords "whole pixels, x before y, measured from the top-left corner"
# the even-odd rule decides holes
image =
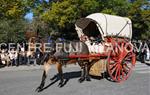
[[[147,0],[52,0],[51,2],[38,1],[34,6],[35,17],[39,17],[48,24],[49,33],[72,35],[74,24],[78,18],[86,17],[95,12],[119,15],[131,18],[133,22],[134,38],[150,38],[149,9]]]

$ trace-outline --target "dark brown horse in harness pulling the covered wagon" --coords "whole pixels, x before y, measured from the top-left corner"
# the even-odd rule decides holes
[[[61,45],[62,47],[58,49],[58,45]],[[64,84],[64,78],[63,78],[63,70],[62,66],[65,64],[73,64],[78,63],[81,67],[81,77],[79,79],[79,82],[83,82],[85,79],[87,81],[90,81],[89,77],[89,60],[80,60],[80,58],[69,58],[69,55],[75,54],[75,55],[88,55],[89,50],[85,43],[81,41],[70,41],[70,42],[62,42],[62,43],[55,43],[52,45],[52,51],[49,53],[44,54],[44,71],[42,76],[42,81],[40,86],[36,89],[36,91],[40,92],[42,91],[45,80],[48,74],[48,71],[50,69],[50,65],[56,64],[58,74],[60,76],[60,83],[59,86],[62,87]]]

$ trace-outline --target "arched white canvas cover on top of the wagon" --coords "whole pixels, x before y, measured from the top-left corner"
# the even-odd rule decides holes
[[[79,38],[86,34],[84,30],[87,30],[86,28],[89,27],[91,22],[95,23],[102,38],[107,36],[132,38],[132,22],[129,18],[103,13],[94,13],[77,20],[75,28]],[[91,32],[95,32],[94,28],[91,26],[90,28],[93,29]]]

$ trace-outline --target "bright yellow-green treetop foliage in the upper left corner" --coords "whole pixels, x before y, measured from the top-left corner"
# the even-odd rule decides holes
[[[31,1],[31,0],[29,0]],[[29,11],[27,0],[1,0],[0,18],[20,19]]]

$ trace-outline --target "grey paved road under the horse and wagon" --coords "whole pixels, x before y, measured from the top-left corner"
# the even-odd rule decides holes
[[[49,80],[56,74],[54,67],[49,72],[46,88],[40,93],[35,89],[41,81],[41,66],[9,67],[0,70],[0,95],[150,95],[150,66],[137,62],[130,78],[124,83],[114,83],[106,79],[92,79],[78,83],[78,66],[64,68],[66,85],[58,87],[58,81]]]

